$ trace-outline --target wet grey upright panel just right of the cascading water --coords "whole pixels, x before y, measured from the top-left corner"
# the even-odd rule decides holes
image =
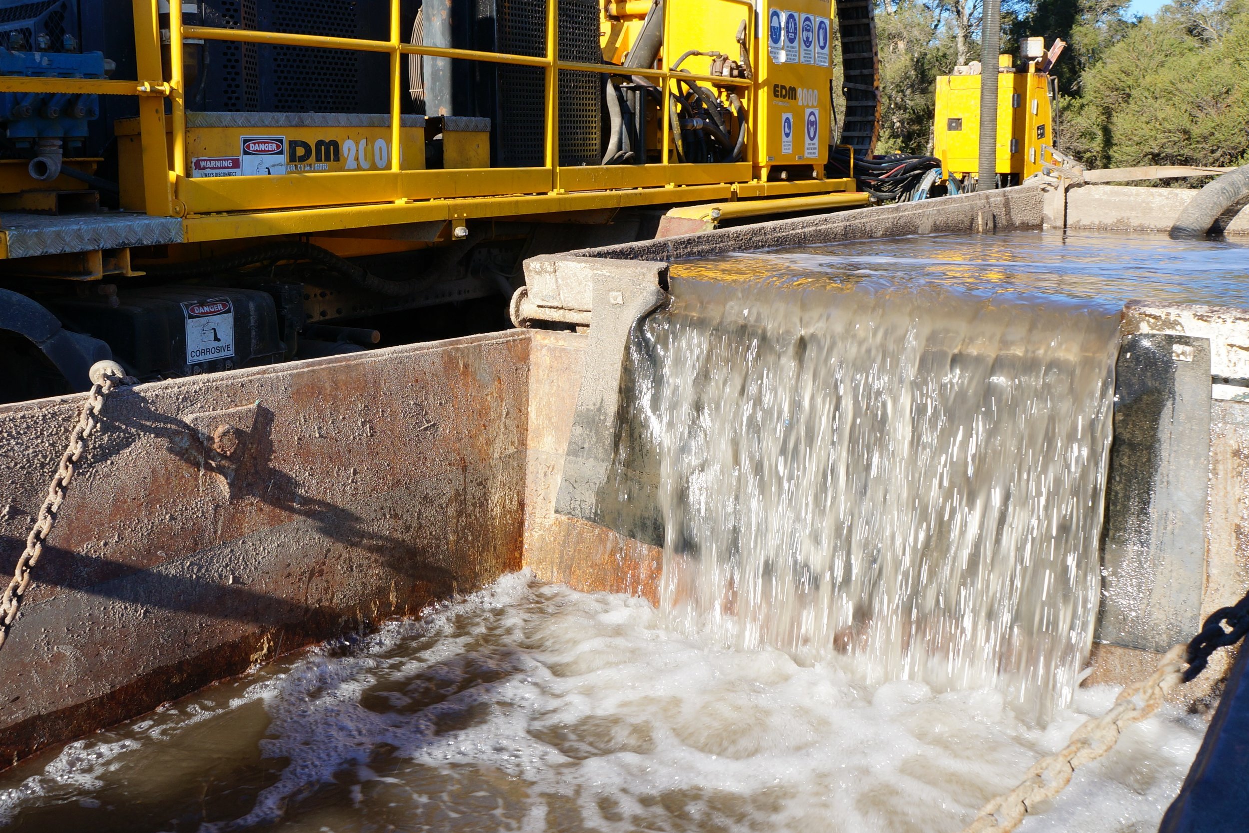
[[[1199,627],[1210,455],[1210,342],[1123,338],[1115,365],[1097,639],[1165,651]]]

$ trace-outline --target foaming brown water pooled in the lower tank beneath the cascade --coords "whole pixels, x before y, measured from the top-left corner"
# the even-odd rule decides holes
[[[0,776],[14,831],[959,829],[1114,691],[1045,731],[993,689],[869,684],[517,573]],[[1200,741],[1164,709],[1023,828],[1142,833]]]

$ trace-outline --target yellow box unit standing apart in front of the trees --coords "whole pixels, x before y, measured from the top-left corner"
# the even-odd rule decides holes
[[[1045,154],[1054,141],[1048,81],[1049,76],[1039,72],[998,75],[998,174],[1023,181],[1052,161]],[[980,76],[938,77],[933,121],[933,156],[940,160],[944,175],[978,176]]]

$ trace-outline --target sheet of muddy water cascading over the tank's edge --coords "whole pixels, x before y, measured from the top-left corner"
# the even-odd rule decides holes
[[[1053,297],[673,280],[629,375],[661,609],[866,682],[1065,704],[1092,639],[1118,316]]]

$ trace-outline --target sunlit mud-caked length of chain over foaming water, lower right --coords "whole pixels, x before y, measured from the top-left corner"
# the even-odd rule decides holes
[[[1125,726],[1149,717],[1162,704],[1167,692],[1183,679],[1188,649],[1185,644],[1172,647],[1163,654],[1154,673],[1127,686],[1114,698],[1110,711],[1082,723],[1072,732],[1065,747],[1032,764],[1019,786],[982,807],[963,833],[1009,833],[1038,803],[1058,796],[1077,767],[1104,756],[1114,747]]]

